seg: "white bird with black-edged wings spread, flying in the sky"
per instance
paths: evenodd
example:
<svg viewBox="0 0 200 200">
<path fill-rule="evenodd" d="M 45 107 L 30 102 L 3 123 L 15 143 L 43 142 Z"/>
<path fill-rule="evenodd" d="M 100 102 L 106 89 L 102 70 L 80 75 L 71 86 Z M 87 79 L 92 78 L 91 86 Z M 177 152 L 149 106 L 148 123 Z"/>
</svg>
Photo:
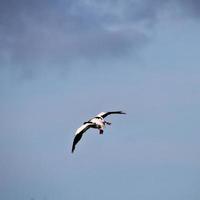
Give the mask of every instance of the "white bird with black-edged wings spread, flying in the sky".
<svg viewBox="0 0 200 200">
<path fill-rule="evenodd" d="M 105 121 L 104 118 L 111 114 L 126 114 L 126 113 L 122 111 L 101 112 L 94 118 L 88 120 L 87 122 L 84 122 L 83 125 L 80 128 L 78 128 L 77 131 L 75 132 L 75 137 L 72 145 L 72 153 L 75 150 L 76 144 L 82 138 L 83 133 L 85 133 L 89 128 L 99 129 L 99 134 L 103 134 L 103 129 L 105 125 L 106 124 L 111 125 L 111 123 Z"/>
</svg>

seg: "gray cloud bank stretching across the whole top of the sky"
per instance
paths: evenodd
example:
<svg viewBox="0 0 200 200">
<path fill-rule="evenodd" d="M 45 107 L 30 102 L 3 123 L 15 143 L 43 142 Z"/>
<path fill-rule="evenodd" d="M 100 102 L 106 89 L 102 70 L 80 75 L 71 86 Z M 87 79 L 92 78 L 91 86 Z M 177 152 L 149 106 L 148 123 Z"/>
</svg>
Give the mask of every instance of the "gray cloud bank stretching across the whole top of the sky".
<svg viewBox="0 0 200 200">
<path fill-rule="evenodd" d="M 175 2 L 1 0 L 1 64 L 48 65 L 128 55 L 148 41 L 146 26 L 154 25 L 166 6 L 199 15 L 198 0 Z"/>
</svg>

